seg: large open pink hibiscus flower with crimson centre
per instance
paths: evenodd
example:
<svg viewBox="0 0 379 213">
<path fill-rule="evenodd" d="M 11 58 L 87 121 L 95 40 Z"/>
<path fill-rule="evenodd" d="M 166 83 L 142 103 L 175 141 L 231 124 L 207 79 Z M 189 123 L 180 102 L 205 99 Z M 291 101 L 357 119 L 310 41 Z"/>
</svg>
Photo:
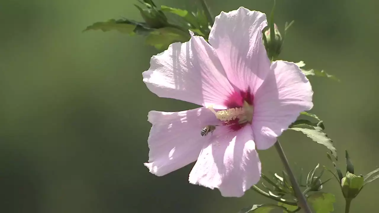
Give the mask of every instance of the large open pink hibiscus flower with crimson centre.
<svg viewBox="0 0 379 213">
<path fill-rule="evenodd" d="M 273 146 L 300 112 L 313 107 L 311 85 L 299 67 L 268 59 L 262 42 L 266 25 L 266 15 L 257 11 L 222 12 L 209 43 L 192 36 L 151 58 L 143 72 L 150 91 L 203 106 L 149 112 L 144 165 L 152 174 L 196 161 L 189 182 L 218 188 L 225 197 L 241 197 L 259 181 L 257 149 Z M 214 131 L 202 132 L 208 125 Z"/>
</svg>

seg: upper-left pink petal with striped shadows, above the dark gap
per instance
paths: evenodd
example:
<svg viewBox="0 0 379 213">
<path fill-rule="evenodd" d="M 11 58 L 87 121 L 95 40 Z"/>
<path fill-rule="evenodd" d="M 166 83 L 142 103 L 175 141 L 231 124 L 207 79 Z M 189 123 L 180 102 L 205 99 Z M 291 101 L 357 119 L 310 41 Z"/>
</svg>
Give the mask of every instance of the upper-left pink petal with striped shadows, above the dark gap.
<svg viewBox="0 0 379 213">
<path fill-rule="evenodd" d="M 215 51 L 199 36 L 153 56 L 143 81 L 159 97 L 216 109 L 226 109 L 223 101 L 233 91 Z"/>
</svg>

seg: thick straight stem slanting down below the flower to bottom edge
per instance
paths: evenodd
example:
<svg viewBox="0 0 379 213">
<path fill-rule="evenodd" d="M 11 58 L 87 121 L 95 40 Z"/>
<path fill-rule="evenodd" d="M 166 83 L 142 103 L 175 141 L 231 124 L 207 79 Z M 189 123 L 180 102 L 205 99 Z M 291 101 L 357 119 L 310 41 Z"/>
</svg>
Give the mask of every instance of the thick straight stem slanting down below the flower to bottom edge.
<svg viewBox="0 0 379 213">
<path fill-rule="evenodd" d="M 287 157 L 285 157 L 284 151 L 278 139 L 276 139 L 275 148 L 279 154 L 280 160 L 282 160 L 282 163 L 284 165 L 285 170 L 287 171 L 288 176 L 290 177 L 291 185 L 295 192 L 295 196 L 298 198 L 299 207 L 303 208 L 306 213 L 312 213 L 312 210 L 310 209 L 307 200 L 305 199 L 304 194 L 301 192 L 300 186 L 296 181 L 295 176 L 293 175 L 293 172 L 290 168 L 290 164 L 288 163 Z"/>
</svg>

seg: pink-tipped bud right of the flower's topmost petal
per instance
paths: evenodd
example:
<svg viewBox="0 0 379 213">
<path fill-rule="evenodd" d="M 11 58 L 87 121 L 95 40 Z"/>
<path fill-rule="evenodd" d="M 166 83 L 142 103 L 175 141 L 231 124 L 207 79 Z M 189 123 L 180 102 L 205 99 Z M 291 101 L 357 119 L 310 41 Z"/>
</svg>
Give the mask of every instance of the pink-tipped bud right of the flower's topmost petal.
<svg viewBox="0 0 379 213">
<path fill-rule="evenodd" d="M 274 23 L 274 39 L 271 40 L 270 28 L 266 26 L 263 29 L 263 44 L 265 45 L 269 59 L 277 58 L 282 52 L 283 37 L 279 32 L 276 24 Z"/>
</svg>

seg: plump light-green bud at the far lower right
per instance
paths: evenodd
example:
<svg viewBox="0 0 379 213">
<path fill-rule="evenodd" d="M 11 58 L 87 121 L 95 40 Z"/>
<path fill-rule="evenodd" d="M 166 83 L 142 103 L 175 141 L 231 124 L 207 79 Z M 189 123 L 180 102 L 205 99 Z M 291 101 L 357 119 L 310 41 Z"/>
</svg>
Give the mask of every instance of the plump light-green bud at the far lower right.
<svg viewBox="0 0 379 213">
<path fill-rule="evenodd" d="M 346 199 L 353 199 L 356 197 L 364 184 L 362 175 L 355 175 L 350 172 L 346 173 L 346 177 L 344 177 L 341 181 L 342 193 Z"/>
</svg>

